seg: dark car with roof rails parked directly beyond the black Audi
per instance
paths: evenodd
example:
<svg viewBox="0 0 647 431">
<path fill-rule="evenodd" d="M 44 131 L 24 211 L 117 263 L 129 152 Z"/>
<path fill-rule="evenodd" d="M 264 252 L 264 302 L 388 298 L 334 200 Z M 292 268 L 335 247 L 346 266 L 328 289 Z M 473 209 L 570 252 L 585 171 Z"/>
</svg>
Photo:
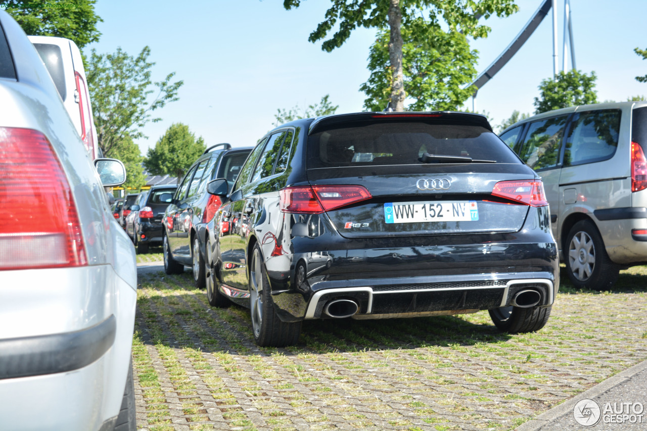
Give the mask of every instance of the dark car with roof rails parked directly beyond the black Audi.
<svg viewBox="0 0 647 431">
<path fill-rule="evenodd" d="M 232 184 L 252 148 L 232 149 L 230 144 L 207 148 L 189 168 L 164 214 L 164 269 L 167 274 L 193 269 L 196 287 L 204 288 L 204 243 L 206 223 L 214 217 L 221 200 L 206 192 L 206 183 L 226 178 Z"/>
</svg>

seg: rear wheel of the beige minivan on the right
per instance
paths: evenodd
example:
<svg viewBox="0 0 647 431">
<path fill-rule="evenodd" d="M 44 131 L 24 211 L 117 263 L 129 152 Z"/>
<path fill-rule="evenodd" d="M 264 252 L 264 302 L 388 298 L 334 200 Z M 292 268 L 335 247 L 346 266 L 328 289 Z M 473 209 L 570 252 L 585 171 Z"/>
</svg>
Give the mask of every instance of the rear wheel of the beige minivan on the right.
<svg viewBox="0 0 647 431">
<path fill-rule="evenodd" d="M 593 223 L 575 223 L 566 237 L 566 272 L 575 287 L 602 291 L 613 286 L 620 272 L 604 249 L 604 241 Z"/>
</svg>

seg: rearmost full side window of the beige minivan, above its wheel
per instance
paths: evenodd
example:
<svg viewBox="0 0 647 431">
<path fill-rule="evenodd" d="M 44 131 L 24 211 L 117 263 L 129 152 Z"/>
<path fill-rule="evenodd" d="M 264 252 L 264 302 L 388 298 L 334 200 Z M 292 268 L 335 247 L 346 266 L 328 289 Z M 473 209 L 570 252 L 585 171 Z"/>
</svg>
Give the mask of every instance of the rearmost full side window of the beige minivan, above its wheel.
<svg viewBox="0 0 647 431">
<path fill-rule="evenodd" d="M 610 159 L 618 148 L 620 109 L 576 113 L 569 127 L 564 166 Z"/>
</svg>

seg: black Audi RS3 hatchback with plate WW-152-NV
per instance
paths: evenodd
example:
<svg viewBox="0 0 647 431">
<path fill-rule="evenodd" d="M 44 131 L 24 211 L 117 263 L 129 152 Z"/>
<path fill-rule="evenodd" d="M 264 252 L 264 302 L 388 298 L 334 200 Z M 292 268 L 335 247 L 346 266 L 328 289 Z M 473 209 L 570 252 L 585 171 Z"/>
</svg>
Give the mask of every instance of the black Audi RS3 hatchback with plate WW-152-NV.
<svg viewBox="0 0 647 431">
<path fill-rule="evenodd" d="M 207 227 L 208 300 L 249 307 L 260 346 L 296 343 L 305 319 L 488 310 L 517 333 L 551 313 L 542 181 L 482 115 L 296 120 L 208 192 L 223 202 Z"/>
</svg>

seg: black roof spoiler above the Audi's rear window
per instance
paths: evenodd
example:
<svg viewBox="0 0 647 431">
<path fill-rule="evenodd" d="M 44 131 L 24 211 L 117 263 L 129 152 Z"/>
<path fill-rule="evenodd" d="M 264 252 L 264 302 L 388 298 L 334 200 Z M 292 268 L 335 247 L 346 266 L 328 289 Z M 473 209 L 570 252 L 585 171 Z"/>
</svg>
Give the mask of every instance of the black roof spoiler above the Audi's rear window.
<svg viewBox="0 0 647 431">
<path fill-rule="evenodd" d="M 468 112 L 361 112 L 353 114 L 327 115 L 315 118 L 310 124 L 308 135 L 312 135 L 321 129 L 344 123 L 415 120 L 438 124 L 455 124 L 457 126 L 479 126 L 492 131 L 492 126 L 490 126 L 490 122 L 488 122 L 485 115 Z"/>
</svg>

